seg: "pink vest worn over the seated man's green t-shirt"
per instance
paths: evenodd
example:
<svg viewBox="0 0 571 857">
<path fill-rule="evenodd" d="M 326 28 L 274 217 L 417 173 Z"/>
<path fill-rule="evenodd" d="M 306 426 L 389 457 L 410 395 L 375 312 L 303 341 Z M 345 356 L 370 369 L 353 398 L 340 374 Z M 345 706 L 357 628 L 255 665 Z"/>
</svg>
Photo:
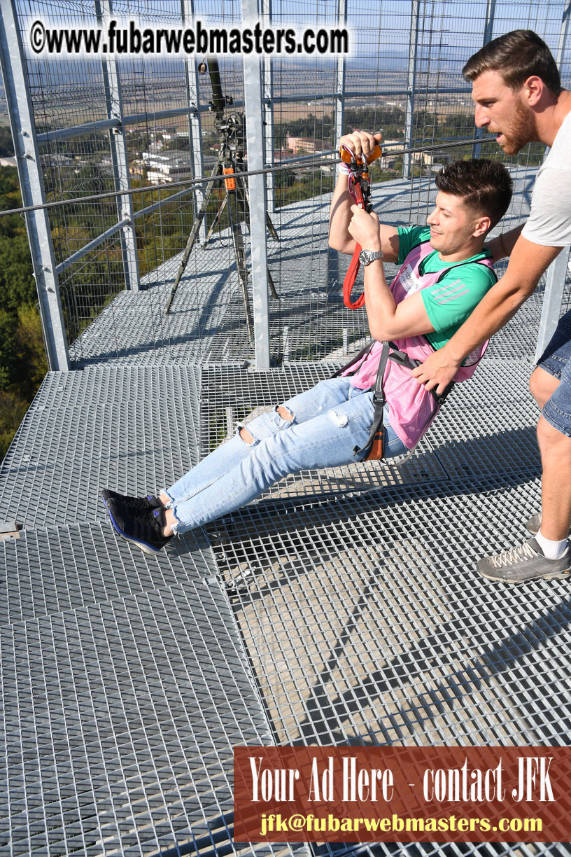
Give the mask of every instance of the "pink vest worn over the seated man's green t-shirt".
<svg viewBox="0 0 571 857">
<path fill-rule="evenodd" d="M 421 274 L 421 262 L 433 252 L 430 243 L 423 242 L 410 250 L 407 258 L 390 284 L 395 303 L 401 303 L 420 289 L 436 285 L 451 268 L 461 265 L 485 265 L 492 268 L 489 259 L 477 262 L 456 262 L 440 271 Z M 355 446 L 354 454 L 367 451 L 365 460 L 383 458 L 384 427 L 383 411 L 389 405 L 390 424 L 408 449 L 413 449 L 430 427 L 444 399 L 459 381 L 466 381 L 474 374 L 484 355 L 487 341 L 470 354 L 456 372 L 454 379 L 442 394 L 426 390 L 413 378 L 411 371 L 424 363 L 436 349 L 425 336 L 411 336 L 390 342 L 374 340 L 353 358 L 347 366 L 339 369 L 333 377 L 352 376 L 351 384 L 361 390 L 374 387 L 374 416 L 371 434 L 363 449 Z"/>
</svg>

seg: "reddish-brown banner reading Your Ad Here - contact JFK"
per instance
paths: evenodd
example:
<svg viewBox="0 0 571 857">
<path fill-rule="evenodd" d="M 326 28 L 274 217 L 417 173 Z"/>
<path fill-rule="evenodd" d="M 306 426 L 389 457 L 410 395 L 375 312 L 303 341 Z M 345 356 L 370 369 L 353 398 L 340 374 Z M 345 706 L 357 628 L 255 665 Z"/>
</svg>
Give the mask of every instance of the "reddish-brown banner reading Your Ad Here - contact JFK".
<svg viewBox="0 0 571 857">
<path fill-rule="evenodd" d="M 571 747 L 240 746 L 235 842 L 569 842 Z"/>
</svg>

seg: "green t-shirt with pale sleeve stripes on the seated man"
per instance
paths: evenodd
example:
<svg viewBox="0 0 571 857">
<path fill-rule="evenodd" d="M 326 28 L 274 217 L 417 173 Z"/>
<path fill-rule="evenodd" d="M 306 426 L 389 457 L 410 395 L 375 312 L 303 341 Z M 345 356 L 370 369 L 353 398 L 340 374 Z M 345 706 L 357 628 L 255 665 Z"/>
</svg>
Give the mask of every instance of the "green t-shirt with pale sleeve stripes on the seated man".
<svg viewBox="0 0 571 857">
<path fill-rule="evenodd" d="M 407 226 L 398 227 L 397 231 L 399 265 L 402 265 L 413 247 L 429 240 L 431 230 L 430 226 Z M 452 339 L 476 304 L 496 283 L 496 274 L 487 265 L 467 264 L 480 259 L 489 259 L 490 255 L 490 252 L 485 249 L 466 261 L 455 262 L 440 282 L 420 292 L 426 314 L 435 330 L 435 333 L 426 334 L 426 339 L 433 348 L 442 348 L 449 339 Z M 433 250 L 421 262 L 420 273 L 434 273 L 442 271 L 445 267 L 449 267 L 449 263 L 443 262 L 438 251 Z"/>
</svg>

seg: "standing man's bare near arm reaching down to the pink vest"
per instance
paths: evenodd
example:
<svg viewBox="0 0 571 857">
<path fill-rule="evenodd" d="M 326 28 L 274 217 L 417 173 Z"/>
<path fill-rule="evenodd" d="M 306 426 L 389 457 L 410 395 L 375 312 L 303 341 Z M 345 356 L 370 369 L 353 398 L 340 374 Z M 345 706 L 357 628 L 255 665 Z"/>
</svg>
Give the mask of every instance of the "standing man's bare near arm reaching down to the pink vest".
<svg viewBox="0 0 571 857">
<path fill-rule="evenodd" d="M 424 384 L 427 390 L 436 388 L 437 393 L 443 393 L 464 358 L 490 339 L 492 333 L 496 333 L 520 309 L 561 249 L 534 244 L 520 235 L 503 278 L 491 287 L 447 345 L 413 370 L 419 384 Z"/>
</svg>

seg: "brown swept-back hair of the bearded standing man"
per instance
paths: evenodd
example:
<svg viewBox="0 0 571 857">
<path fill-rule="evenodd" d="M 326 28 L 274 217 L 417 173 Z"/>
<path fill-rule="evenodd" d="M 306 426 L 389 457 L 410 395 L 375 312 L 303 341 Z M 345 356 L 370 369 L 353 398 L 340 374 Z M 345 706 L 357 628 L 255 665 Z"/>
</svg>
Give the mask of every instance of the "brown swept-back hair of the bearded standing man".
<svg viewBox="0 0 571 857">
<path fill-rule="evenodd" d="M 519 89 L 532 75 L 537 75 L 554 95 L 562 90 L 561 78 L 550 49 L 533 30 L 512 30 L 473 54 L 462 69 L 467 81 L 484 71 L 498 71 L 506 86 Z"/>
</svg>

